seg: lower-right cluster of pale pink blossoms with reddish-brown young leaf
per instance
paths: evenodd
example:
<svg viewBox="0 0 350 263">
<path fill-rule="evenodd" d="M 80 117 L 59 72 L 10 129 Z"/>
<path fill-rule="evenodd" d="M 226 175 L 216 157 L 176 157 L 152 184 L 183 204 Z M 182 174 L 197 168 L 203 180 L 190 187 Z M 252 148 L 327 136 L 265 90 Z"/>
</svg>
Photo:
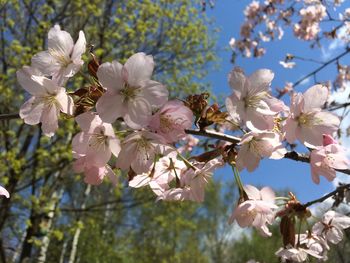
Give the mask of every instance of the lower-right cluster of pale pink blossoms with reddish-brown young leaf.
<svg viewBox="0 0 350 263">
<path fill-rule="evenodd" d="M 271 188 L 264 187 L 258 190 L 252 185 L 243 188 L 244 192 L 229 223 L 236 221 L 241 227 L 253 226 L 263 236 L 271 236 L 267 225 L 273 224 L 280 216 L 284 246 L 276 252 L 276 255 L 282 262 L 304 262 L 308 256 L 322 261 L 327 260 L 327 252 L 330 250 L 328 243 L 338 244 L 343 239 L 343 230 L 350 227 L 350 217 L 330 210 L 305 233 L 294 235 L 293 218 L 296 214 L 301 217 L 309 213 L 305 207 L 291 198 L 285 208 L 278 210 L 275 193 Z M 299 209 L 295 209 L 296 207 Z"/>
</svg>

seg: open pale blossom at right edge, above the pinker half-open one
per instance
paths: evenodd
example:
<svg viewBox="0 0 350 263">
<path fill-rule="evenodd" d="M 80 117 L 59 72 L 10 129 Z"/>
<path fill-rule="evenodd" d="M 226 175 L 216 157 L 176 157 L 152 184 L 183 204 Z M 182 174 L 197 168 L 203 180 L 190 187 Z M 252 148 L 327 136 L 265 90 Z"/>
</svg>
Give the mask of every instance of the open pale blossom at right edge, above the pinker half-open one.
<svg viewBox="0 0 350 263">
<path fill-rule="evenodd" d="M 289 143 L 298 139 L 306 146 L 320 146 L 323 134 L 332 134 L 338 129 L 338 116 L 321 110 L 327 98 L 328 88 L 323 85 L 292 95 L 290 114 L 283 127 Z"/>
</svg>

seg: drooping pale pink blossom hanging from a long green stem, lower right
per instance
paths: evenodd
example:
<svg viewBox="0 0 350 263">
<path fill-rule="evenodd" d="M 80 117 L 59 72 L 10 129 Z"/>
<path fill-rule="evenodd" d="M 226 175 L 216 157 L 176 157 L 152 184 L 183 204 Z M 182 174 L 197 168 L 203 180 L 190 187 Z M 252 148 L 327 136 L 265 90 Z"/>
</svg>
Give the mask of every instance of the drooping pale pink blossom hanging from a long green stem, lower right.
<svg viewBox="0 0 350 263">
<path fill-rule="evenodd" d="M 240 227 L 254 226 L 264 236 L 271 236 L 271 232 L 266 224 L 272 224 L 274 220 L 274 209 L 277 209 L 275 193 L 269 187 L 264 187 L 260 191 L 252 186 L 244 186 L 244 191 L 248 200 L 238 204 L 233 211 L 229 223 L 235 220 Z"/>
</svg>

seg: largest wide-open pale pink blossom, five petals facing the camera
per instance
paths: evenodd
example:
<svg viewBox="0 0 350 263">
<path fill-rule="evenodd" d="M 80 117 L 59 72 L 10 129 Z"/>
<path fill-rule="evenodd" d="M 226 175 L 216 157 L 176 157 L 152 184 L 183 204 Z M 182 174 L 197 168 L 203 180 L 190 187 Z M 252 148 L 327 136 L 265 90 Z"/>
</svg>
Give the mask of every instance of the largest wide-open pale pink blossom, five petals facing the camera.
<svg viewBox="0 0 350 263">
<path fill-rule="evenodd" d="M 134 54 L 124 66 L 114 60 L 98 68 L 98 80 L 107 90 L 96 104 L 103 121 L 123 117 L 133 129 L 148 125 L 153 108 L 168 100 L 165 86 L 150 79 L 153 68 L 153 57 L 144 53 Z"/>
</svg>

